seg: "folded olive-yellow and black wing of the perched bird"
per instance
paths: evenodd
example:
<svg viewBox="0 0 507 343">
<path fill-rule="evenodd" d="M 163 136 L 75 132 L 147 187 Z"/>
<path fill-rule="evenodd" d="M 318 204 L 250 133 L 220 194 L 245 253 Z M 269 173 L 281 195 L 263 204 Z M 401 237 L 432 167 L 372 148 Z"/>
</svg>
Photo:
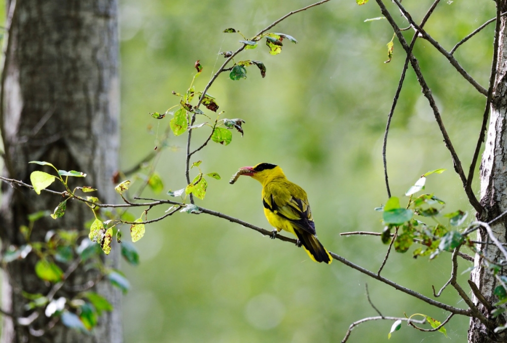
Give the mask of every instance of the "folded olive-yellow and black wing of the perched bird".
<svg viewBox="0 0 507 343">
<path fill-rule="evenodd" d="M 295 224 L 297 227 L 315 235 L 315 223 L 308 200 L 299 199 L 290 194 L 274 196 L 266 193 L 263 196 L 264 207 L 271 212 Z"/>
</svg>

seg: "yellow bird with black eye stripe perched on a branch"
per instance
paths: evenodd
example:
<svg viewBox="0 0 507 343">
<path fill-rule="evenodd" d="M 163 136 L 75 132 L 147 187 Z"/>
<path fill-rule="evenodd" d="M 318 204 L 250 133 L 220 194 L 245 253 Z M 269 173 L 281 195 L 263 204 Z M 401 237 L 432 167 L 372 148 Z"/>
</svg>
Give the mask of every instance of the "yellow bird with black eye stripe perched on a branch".
<svg viewBox="0 0 507 343">
<path fill-rule="evenodd" d="M 298 247 L 303 245 L 312 260 L 331 263 L 333 258 L 315 234 L 315 223 L 303 188 L 287 180 L 282 169 L 270 163 L 243 167 L 238 173 L 261 182 L 264 214 L 276 228 L 272 238 L 275 238 L 280 230 L 288 231 L 296 235 L 296 244 Z"/>
</svg>

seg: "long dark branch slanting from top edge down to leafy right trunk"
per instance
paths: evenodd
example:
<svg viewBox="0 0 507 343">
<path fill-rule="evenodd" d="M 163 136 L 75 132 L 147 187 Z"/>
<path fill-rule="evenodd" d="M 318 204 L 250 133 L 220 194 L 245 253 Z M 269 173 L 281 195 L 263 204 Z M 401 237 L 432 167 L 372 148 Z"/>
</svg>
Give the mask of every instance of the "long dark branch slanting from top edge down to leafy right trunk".
<svg viewBox="0 0 507 343">
<path fill-rule="evenodd" d="M 376 1 L 377 1 L 378 6 L 380 7 L 382 14 L 384 15 L 384 17 L 386 17 L 387 21 L 389 22 L 391 27 L 394 29 L 394 33 L 396 34 L 403 49 L 407 52 L 408 55 L 410 55 L 410 63 L 417 75 L 417 80 L 419 81 L 419 84 L 421 85 L 422 93 L 424 94 L 424 96 L 428 100 L 429 105 L 431 106 L 431 109 L 433 110 L 433 115 L 437 121 L 437 124 L 439 125 L 442 136 L 444 137 L 446 147 L 449 150 L 449 152 L 451 153 L 451 157 L 452 157 L 452 160 L 454 163 L 454 170 L 456 171 L 456 173 L 458 174 L 458 176 L 461 179 L 461 182 L 463 184 L 463 188 L 465 189 L 465 193 L 467 195 L 468 201 L 476 209 L 477 212 L 482 213 L 483 208 L 482 208 L 481 204 L 479 203 L 479 201 L 477 200 L 474 192 L 471 192 L 468 189 L 468 187 L 466 186 L 466 176 L 463 172 L 461 162 L 458 158 L 458 155 L 456 154 L 456 150 L 454 149 L 452 142 L 449 138 L 449 135 L 447 134 L 447 131 L 444 127 L 444 123 L 442 122 L 442 118 L 440 116 L 440 112 L 437 107 L 437 104 L 436 104 L 433 96 L 431 95 L 431 90 L 429 89 L 428 85 L 426 84 L 426 81 L 424 80 L 421 69 L 419 67 L 419 62 L 417 61 L 417 59 L 414 57 L 413 54 L 411 54 L 411 53 L 409 54 L 410 47 L 407 45 L 407 41 L 405 40 L 405 37 L 403 36 L 402 32 L 400 31 L 400 28 L 397 26 L 396 22 L 392 18 L 389 11 L 387 11 L 382 0 L 376 0 Z M 397 0 L 393 0 L 393 1 L 397 2 Z"/>
</svg>

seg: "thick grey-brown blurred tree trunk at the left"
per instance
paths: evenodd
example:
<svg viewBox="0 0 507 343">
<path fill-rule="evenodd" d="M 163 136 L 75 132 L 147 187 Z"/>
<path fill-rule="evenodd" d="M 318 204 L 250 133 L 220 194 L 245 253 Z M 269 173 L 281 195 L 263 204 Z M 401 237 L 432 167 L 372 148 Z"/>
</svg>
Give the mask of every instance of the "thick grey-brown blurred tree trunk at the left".
<svg viewBox="0 0 507 343">
<path fill-rule="evenodd" d="M 33 170 L 51 170 L 28 162 L 47 161 L 58 169 L 86 173 L 86 178 L 79 178 L 79 185 L 98 188 L 94 196 L 102 202 L 115 202 L 112 176 L 118 168 L 119 145 L 117 1 L 12 0 L 8 13 L 11 29 L 6 35 L 0 93 L 4 175 L 30 183 Z M 5 253 L 11 245 L 27 243 L 20 227 L 28 225 L 28 214 L 52 211 L 62 199 L 44 192 L 38 196 L 33 190 L 5 183 L 3 188 L 0 238 Z M 86 205 L 68 201 L 62 218 L 44 217 L 35 222 L 30 242 L 44 242 L 49 230 L 82 231 L 90 218 L 93 214 Z M 118 264 L 117 250 L 113 248 L 107 257 L 113 266 Z M 114 311 L 102 313 L 92 335 L 69 329 L 61 321 L 47 318 L 44 311 L 30 325 L 21 325 L 16 319 L 29 317 L 34 311 L 25 308 L 29 300 L 21 292 L 46 295 L 52 287 L 34 273 L 39 259 L 31 252 L 4 265 L 3 310 L 13 317 L 3 319 L 2 343 L 122 342 L 120 293 L 104 281 L 94 289 L 106 296 Z M 79 288 L 72 286 L 86 284 L 96 274 L 78 266 L 55 298 L 72 298 Z"/>
</svg>

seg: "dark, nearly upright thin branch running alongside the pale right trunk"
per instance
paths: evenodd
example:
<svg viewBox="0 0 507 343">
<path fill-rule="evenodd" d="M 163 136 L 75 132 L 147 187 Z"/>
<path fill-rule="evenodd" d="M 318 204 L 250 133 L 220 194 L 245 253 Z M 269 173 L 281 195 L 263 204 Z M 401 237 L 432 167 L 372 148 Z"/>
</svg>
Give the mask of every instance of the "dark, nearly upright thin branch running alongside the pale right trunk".
<svg viewBox="0 0 507 343">
<path fill-rule="evenodd" d="M 489 111 L 491 106 L 491 100 L 493 99 L 493 88 L 495 86 L 496 80 L 496 69 L 498 64 L 498 46 L 500 40 L 500 9 L 497 9 L 496 16 L 496 25 L 495 25 L 495 36 L 493 41 L 493 61 L 491 62 L 491 72 L 489 74 L 489 87 L 488 94 L 486 99 L 486 106 L 484 108 L 484 114 L 482 116 L 482 125 L 481 131 L 479 132 L 479 139 L 477 140 L 476 148 L 474 150 L 474 156 L 472 157 L 472 162 L 470 163 L 470 168 L 468 169 L 468 179 L 466 186 L 468 189 L 472 190 L 472 180 L 474 179 L 475 169 L 477 165 L 477 160 L 479 159 L 479 153 L 481 151 L 482 143 L 486 137 L 486 128 L 488 125 Z"/>
</svg>

